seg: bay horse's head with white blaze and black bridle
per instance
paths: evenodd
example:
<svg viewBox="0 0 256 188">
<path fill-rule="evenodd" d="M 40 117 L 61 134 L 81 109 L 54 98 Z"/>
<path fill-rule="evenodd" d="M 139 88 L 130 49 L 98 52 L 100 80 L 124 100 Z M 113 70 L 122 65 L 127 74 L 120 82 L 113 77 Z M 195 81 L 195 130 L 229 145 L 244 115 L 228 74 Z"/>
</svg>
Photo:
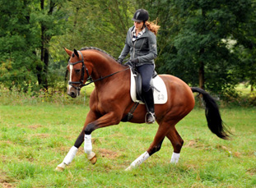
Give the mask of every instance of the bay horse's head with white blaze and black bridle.
<svg viewBox="0 0 256 188">
<path fill-rule="evenodd" d="M 69 71 L 67 94 L 72 98 L 76 98 L 90 75 L 80 51 L 74 49 L 74 52 L 72 52 L 67 48 L 65 48 L 65 51 L 70 56 L 67 65 L 67 70 Z"/>
</svg>

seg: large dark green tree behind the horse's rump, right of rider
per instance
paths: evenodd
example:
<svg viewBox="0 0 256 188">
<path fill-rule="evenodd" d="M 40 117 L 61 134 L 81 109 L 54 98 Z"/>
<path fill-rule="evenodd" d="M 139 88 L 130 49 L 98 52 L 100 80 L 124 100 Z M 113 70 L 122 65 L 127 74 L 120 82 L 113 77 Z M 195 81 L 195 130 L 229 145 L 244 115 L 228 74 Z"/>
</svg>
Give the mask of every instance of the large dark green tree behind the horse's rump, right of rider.
<svg viewBox="0 0 256 188">
<path fill-rule="evenodd" d="M 223 39 L 235 39 L 233 32 L 246 22 L 251 2 L 184 0 L 175 1 L 175 6 L 184 18 L 183 28 L 174 41 L 177 57 L 185 67 L 195 64 L 199 86 L 216 92 L 235 85 L 230 70 L 239 60 L 226 48 Z"/>
</svg>

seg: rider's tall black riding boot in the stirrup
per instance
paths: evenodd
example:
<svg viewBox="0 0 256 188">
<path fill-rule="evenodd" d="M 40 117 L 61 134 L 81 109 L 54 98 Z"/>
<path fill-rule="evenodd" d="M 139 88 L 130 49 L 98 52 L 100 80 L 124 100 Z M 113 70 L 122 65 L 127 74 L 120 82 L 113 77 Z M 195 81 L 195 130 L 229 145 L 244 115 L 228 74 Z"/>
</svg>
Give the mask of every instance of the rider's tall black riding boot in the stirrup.
<svg viewBox="0 0 256 188">
<path fill-rule="evenodd" d="M 147 108 L 147 114 L 146 114 L 145 120 L 147 123 L 154 123 L 156 120 L 156 117 L 155 117 L 153 89 L 149 89 L 147 92 L 143 92 L 143 97 L 144 97 L 144 101 Z"/>
</svg>

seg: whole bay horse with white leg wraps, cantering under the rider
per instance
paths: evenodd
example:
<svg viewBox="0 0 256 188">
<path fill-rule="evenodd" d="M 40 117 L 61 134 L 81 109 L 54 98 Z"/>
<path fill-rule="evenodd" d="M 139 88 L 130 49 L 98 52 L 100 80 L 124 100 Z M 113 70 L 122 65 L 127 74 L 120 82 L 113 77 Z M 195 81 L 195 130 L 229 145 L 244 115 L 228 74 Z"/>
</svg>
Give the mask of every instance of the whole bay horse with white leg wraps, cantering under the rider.
<svg viewBox="0 0 256 188">
<path fill-rule="evenodd" d="M 94 82 L 95 89 L 91 93 L 90 111 L 86 122 L 75 144 L 63 159 L 63 163 L 56 167 L 58 171 L 63 171 L 72 162 L 77 149 L 83 142 L 85 142 L 84 150 L 87 158 L 95 164 L 97 158 L 92 151 L 91 133 L 105 126 L 118 125 L 134 106 L 130 97 L 131 72 L 128 66 L 119 64 L 114 57 L 99 48 L 81 48 L 80 51 L 74 49 L 73 52 L 65 48 L 65 51 L 70 57 L 67 65 L 70 75 L 67 94 L 76 98 L 81 87 L 91 82 Z M 165 82 L 168 100 L 165 104 L 155 105 L 158 130 L 147 151 L 133 161 L 126 170 L 137 167 L 159 151 L 165 137 L 170 140 L 174 149 L 170 163 L 178 163 L 184 140 L 175 129 L 175 125 L 193 109 L 195 104 L 193 92 L 201 94 L 205 102 L 208 128 L 221 139 L 229 137 L 222 123 L 218 106 L 210 94 L 203 89 L 190 88 L 183 80 L 175 76 L 160 75 L 160 77 Z M 90 83 L 85 84 L 86 81 Z M 144 123 L 146 113 L 145 105 L 139 104 L 129 122 Z"/>
</svg>

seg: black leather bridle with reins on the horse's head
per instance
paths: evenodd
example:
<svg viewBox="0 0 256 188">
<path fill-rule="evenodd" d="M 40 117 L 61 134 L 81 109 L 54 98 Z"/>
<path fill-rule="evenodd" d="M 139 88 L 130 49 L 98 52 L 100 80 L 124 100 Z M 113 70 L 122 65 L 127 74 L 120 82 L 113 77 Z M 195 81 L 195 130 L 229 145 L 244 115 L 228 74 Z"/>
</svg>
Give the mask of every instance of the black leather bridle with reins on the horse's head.
<svg viewBox="0 0 256 188">
<path fill-rule="evenodd" d="M 81 89 L 83 86 L 91 85 L 91 83 L 94 83 L 94 82 L 99 81 L 99 80 L 103 80 L 103 79 L 105 79 L 105 78 L 107 78 L 107 77 L 109 77 L 109 76 L 114 76 L 115 74 L 121 72 L 121 71 L 117 71 L 117 72 L 114 72 L 114 73 L 112 73 L 112 74 L 110 74 L 110 75 L 108 75 L 108 76 L 103 76 L 103 77 L 100 76 L 99 79 L 93 80 L 92 77 L 91 77 L 91 75 L 89 75 L 89 71 L 88 71 L 88 69 L 87 69 L 87 67 L 86 67 L 86 65 L 85 65 L 84 57 L 82 56 L 82 53 L 81 53 L 80 51 L 77 51 L 77 52 L 81 54 L 81 60 L 80 60 L 80 61 L 78 61 L 78 62 L 70 62 L 70 61 L 68 60 L 68 65 L 72 65 L 72 66 L 73 66 L 73 65 L 76 65 L 76 64 L 79 63 L 79 62 L 81 62 L 81 78 L 80 78 L 80 80 L 79 80 L 79 81 L 68 81 L 68 85 L 71 85 L 74 89 L 77 89 L 77 91 L 80 91 L 80 89 Z M 86 85 L 83 84 L 83 82 L 84 82 L 84 76 L 85 76 L 85 69 L 86 69 L 86 74 L 87 74 L 87 76 L 88 76 L 88 79 L 87 79 L 87 80 L 89 80 L 89 83 L 87 83 Z M 128 68 L 126 68 L 126 69 L 123 69 L 122 71 L 127 71 L 128 69 L 130 69 L 130 66 L 128 66 Z M 78 86 L 75 86 L 75 85 L 78 85 Z"/>
</svg>

